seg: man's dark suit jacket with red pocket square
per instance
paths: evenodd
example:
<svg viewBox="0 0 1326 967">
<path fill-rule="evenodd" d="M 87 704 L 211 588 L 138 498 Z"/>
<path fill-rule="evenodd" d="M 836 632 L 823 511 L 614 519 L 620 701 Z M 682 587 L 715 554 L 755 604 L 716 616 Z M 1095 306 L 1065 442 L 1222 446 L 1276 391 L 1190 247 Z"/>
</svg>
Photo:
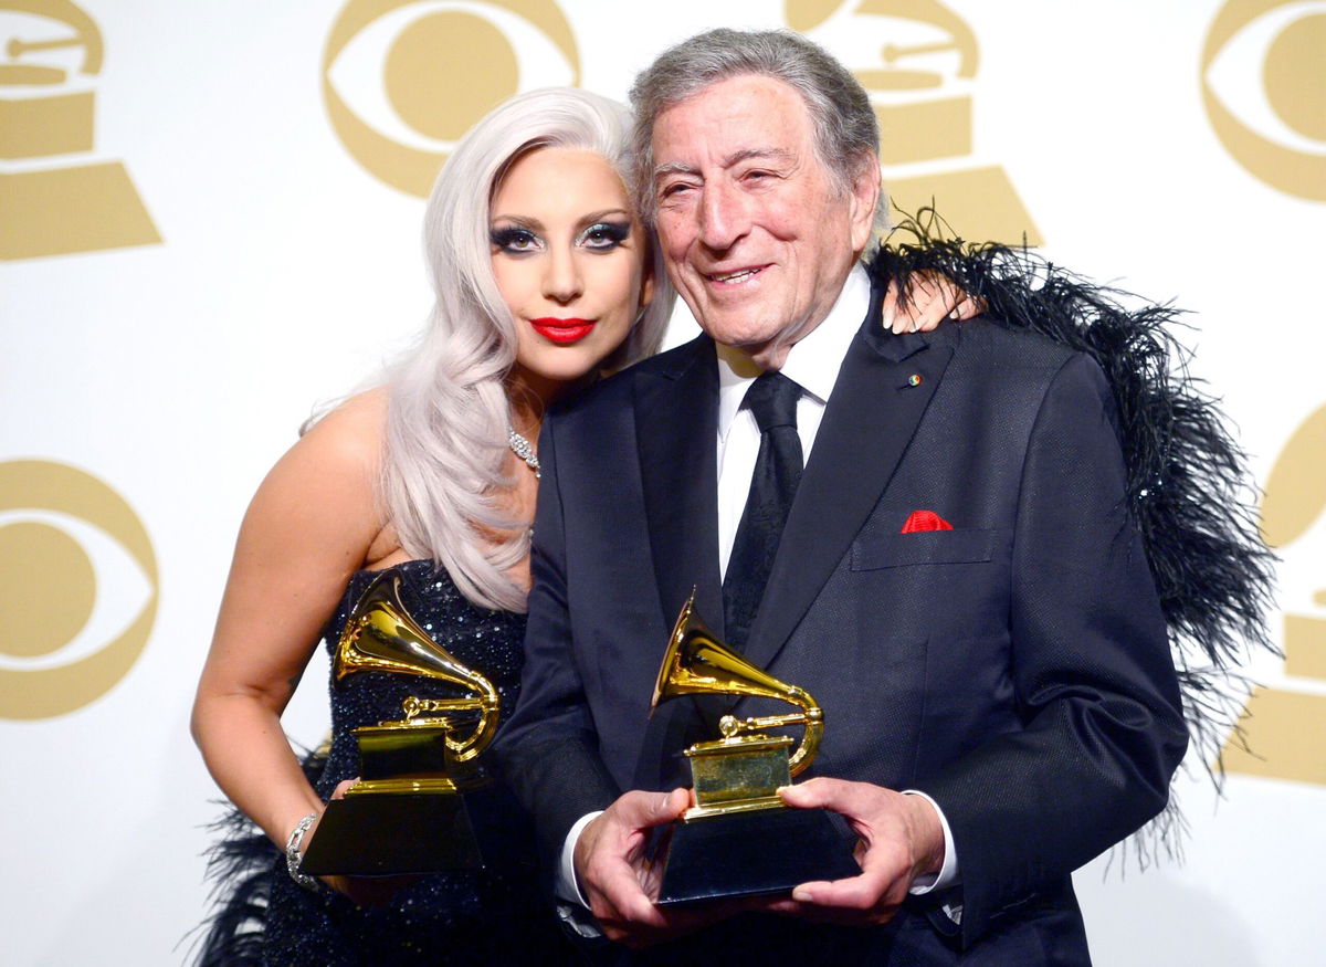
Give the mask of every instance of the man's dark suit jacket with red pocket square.
<svg viewBox="0 0 1326 967">
<path fill-rule="evenodd" d="M 904 910 L 849 943 L 879 963 L 961 948 L 1086 962 L 1069 873 L 1166 804 L 1185 748 L 1113 399 L 1082 354 L 984 320 L 894 336 L 878 302 L 839 370 L 747 655 L 825 708 L 806 777 L 922 789 L 952 829 L 960 933 Z M 721 634 L 716 414 L 701 336 L 545 420 L 522 695 L 497 751 L 549 853 L 622 791 L 678 784 L 695 710 L 675 700 L 651 720 L 648 702 L 692 588 Z M 953 529 L 902 533 L 918 509 Z M 821 954 L 829 942 L 800 923 L 743 929 L 728 934 L 778 938 L 774 956 L 798 936 Z"/>
</svg>

